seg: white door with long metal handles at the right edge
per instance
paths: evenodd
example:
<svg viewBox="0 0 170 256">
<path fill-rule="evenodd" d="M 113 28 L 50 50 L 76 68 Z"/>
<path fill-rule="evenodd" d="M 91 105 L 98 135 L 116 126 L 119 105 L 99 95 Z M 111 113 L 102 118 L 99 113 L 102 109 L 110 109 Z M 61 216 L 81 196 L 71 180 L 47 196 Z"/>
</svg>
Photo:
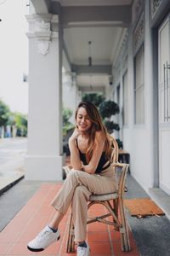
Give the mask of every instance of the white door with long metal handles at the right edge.
<svg viewBox="0 0 170 256">
<path fill-rule="evenodd" d="M 159 185 L 170 195 L 170 15 L 158 29 Z"/>
</svg>

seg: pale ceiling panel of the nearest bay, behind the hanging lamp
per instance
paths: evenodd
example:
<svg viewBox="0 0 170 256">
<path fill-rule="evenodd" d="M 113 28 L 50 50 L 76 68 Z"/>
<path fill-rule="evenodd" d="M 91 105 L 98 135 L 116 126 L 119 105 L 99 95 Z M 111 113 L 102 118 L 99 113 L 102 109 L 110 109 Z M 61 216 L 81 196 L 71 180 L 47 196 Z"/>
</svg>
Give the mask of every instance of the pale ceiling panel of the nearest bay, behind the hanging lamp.
<svg viewBox="0 0 170 256">
<path fill-rule="evenodd" d="M 76 65 L 88 65 L 89 44 L 93 65 L 111 65 L 117 44 L 122 37 L 122 27 L 83 26 L 64 29 L 65 46 Z"/>
</svg>

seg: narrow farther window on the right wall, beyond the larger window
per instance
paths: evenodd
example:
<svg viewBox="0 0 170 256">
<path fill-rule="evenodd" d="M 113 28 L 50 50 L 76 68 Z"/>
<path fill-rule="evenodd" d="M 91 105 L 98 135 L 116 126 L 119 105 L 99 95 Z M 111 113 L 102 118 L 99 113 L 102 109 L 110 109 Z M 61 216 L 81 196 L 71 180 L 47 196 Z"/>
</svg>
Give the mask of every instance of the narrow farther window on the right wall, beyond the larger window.
<svg viewBox="0 0 170 256">
<path fill-rule="evenodd" d="M 128 124 L 127 72 L 124 73 L 124 75 L 123 75 L 122 83 L 123 83 L 123 114 L 122 114 L 122 121 L 123 121 L 123 125 L 127 125 Z"/>
</svg>

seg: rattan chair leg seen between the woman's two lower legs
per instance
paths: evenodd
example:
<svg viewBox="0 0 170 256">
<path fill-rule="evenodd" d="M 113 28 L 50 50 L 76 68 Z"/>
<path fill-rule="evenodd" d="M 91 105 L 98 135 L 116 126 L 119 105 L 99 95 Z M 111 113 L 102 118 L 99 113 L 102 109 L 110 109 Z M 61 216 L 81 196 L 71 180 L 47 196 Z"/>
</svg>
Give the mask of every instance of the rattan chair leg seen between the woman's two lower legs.
<svg viewBox="0 0 170 256">
<path fill-rule="evenodd" d="M 74 241 L 74 225 L 72 220 L 72 213 L 69 221 L 68 239 L 67 239 L 67 253 L 75 252 L 75 241 Z"/>
</svg>

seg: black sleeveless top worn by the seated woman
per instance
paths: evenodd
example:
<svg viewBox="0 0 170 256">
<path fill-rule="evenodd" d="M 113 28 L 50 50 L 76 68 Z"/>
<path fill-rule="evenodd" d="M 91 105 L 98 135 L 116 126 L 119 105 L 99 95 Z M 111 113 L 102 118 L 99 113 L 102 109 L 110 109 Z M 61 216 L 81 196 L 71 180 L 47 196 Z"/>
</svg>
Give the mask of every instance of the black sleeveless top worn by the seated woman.
<svg viewBox="0 0 170 256">
<path fill-rule="evenodd" d="M 76 140 L 76 142 L 77 142 L 77 140 Z M 77 148 L 78 148 L 78 142 L 77 142 Z M 86 159 L 86 154 L 82 153 L 79 148 L 78 148 L 78 151 L 79 151 L 80 160 L 82 161 L 82 164 L 84 166 L 87 166 L 88 161 Z M 102 152 L 101 157 L 99 159 L 99 164 L 95 170 L 95 173 L 100 173 L 100 172 L 104 171 L 105 169 L 107 169 L 109 166 L 111 166 L 110 162 L 108 163 L 108 165 L 105 166 L 106 162 L 108 162 L 108 159 L 106 159 L 105 152 Z M 103 166 L 105 166 L 105 167 L 103 167 Z"/>
</svg>

